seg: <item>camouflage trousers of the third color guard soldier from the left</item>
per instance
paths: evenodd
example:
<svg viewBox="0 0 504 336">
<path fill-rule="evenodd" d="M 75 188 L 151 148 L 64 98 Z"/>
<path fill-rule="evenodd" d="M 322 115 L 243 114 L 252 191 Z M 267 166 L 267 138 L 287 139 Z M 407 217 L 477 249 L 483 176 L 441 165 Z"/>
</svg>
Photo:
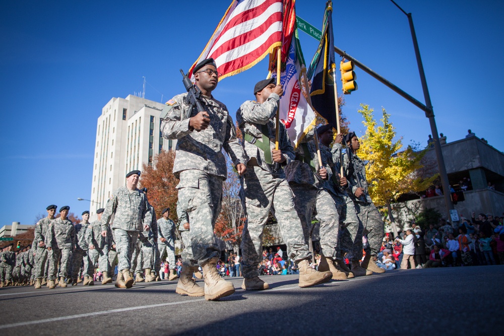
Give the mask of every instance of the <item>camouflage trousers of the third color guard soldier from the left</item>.
<svg viewBox="0 0 504 336">
<path fill-rule="evenodd" d="M 317 189 L 312 185 L 291 183 L 290 187 L 306 244 L 313 230 L 311 216 L 316 212 L 315 218 L 320 222 L 321 252 L 328 258 L 336 258 L 340 214 L 333 196 L 326 189 Z"/>
</svg>

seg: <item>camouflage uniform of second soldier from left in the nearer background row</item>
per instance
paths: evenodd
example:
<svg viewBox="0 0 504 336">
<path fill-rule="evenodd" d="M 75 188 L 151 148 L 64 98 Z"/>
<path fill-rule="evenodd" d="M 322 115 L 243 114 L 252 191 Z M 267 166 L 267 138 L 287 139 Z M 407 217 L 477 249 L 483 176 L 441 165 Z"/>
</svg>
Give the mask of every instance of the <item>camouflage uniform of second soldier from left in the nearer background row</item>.
<svg viewBox="0 0 504 336">
<path fill-rule="evenodd" d="M 70 259 L 72 251 L 75 247 L 75 228 L 74 224 L 68 218 L 63 220 L 61 217 L 52 221 L 49 224 L 47 247 L 52 249 L 49 251 L 49 279 L 55 280 L 57 277 L 67 278 L 70 270 Z M 58 274 L 58 261 L 59 265 Z"/>
</svg>

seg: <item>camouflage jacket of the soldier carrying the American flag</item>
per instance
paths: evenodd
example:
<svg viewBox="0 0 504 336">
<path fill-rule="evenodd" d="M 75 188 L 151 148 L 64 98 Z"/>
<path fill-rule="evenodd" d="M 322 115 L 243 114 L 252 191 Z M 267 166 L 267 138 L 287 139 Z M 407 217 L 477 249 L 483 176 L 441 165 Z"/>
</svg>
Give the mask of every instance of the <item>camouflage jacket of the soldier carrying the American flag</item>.
<svg viewBox="0 0 504 336">
<path fill-rule="evenodd" d="M 265 136 L 269 138 L 270 152 L 275 149 L 276 135 L 276 119 L 275 114 L 278 108 L 280 97 L 276 93 L 272 93 L 268 99 L 260 104 L 257 101 L 247 100 L 241 104 L 236 111 L 236 121 L 243 136 L 249 135 L 250 141 L 243 140 L 243 148 L 247 162 L 255 158 L 258 165 L 269 172 L 272 172 L 272 165 L 266 163 L 265 153 L 256 144 L 263 141 L 263 125 L 266 125 Z M 279 144 L 278 148 L 282 151 L 285 161 L 280 164 L 281 168 L 285 167 L 295 158 L 294 148 L 290 142 L 285 125 L 280 122 Z M 280 170 L 280 175 L 283 175 L 283 169 Z"/>
</svg>

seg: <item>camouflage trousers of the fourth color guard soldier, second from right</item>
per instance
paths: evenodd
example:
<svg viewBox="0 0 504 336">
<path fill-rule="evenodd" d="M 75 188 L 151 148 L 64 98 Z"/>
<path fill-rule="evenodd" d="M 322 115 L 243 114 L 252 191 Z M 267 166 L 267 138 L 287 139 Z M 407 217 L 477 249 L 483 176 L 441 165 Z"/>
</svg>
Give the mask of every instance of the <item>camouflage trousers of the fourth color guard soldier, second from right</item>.
<svg viewBox="0 0 504 336">
<path fill-rule="evenodd" d="M 362 259 L 362 234 L 364 226 L 357 217 L 355 206 L 350 197 L 345 196 L 345 205 L 341 208 L 340 216 L 340 247 L 341 250 L 349 255 L 351 261 Z M 343 255 L 339 259 L 343 259 Z"/>
</svg>

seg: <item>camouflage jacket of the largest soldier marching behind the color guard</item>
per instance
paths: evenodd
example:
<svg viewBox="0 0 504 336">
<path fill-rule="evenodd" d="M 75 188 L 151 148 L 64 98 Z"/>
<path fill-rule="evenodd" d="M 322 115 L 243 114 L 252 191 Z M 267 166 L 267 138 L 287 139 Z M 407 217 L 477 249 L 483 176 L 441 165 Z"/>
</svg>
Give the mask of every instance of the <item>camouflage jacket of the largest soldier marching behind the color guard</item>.
<svg viewBox="0 0 504 336">
<path fill-rule="evenodd" d="M 144 224 L 151 225 L 152 217 L 147 197 L 139 189 L 132 192 L 123 186 L 115 190 L 105 205 L 101 217 L 101 230 L 106 231 L 112 214 L 115 214 L 113 229 L 143 231 Z"/>
</svg>

